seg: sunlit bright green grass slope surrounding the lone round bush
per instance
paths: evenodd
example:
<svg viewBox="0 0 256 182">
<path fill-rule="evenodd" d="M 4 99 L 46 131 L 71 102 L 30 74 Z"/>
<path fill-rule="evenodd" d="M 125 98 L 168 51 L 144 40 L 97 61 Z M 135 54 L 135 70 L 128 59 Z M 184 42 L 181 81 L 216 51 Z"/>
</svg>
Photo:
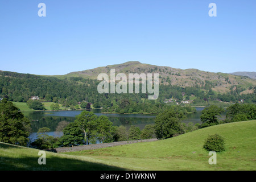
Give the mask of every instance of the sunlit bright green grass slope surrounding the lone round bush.
<svg viewBox="0 0 256 182">
<path fill-rule="evenodd" d="M 68 152 L 90 156 L 118 167 L 135 170 L 256 170 L 256 120 L 226 123 L 156 142 L 135 143 L 98 150 Z M 203 149 L 209 134 L 225 138 L 226 150 L 217 164 L 208 163 Z"/>
</svg>

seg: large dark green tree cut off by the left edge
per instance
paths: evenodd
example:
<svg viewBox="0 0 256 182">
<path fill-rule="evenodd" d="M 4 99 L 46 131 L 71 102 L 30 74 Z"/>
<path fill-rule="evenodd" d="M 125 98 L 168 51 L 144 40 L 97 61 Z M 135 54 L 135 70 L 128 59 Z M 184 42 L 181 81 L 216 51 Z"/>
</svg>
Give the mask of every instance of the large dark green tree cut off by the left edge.
<svg viewBox="0 0 256 182">
<path fill-rule="evenodd" d="M 0 102 L 0 141 L 26 146 L 29 131 L 30 121 L 13 102 L 3 98 Z"/>
</svg>

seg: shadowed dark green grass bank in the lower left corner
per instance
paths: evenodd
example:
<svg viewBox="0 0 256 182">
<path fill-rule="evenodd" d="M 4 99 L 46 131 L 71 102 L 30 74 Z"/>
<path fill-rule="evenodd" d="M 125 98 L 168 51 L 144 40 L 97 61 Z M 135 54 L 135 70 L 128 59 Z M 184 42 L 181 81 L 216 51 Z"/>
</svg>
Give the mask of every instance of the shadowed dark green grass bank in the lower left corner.
<svg viewBox="0 0 256 182">
<path fill-rule="evenodd" d="M 46 152 L 46 165 L 38 164 L 39 150 L 0 142 L 0 170 L 123 170 L 98 163 L 97 159 Z"/>
</svg>

